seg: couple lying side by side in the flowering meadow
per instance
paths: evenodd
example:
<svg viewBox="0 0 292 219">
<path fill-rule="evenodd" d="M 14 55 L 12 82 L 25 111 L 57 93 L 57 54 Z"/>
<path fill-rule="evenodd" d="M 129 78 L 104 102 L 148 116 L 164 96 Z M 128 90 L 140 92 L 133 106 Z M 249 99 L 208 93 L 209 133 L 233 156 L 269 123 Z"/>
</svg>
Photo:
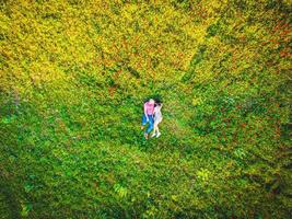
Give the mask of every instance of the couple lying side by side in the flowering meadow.
<svg viewBox="0 0 292 219">
<path fill-rule="evenodd" d="M 142 118 L 141 129 L 144 128 L 144 125 L 149 123 L 147 130 L 144 131 L 145 139 L 149 138 L 149 134 L 154 128 L 152 138 L 156 136 L 159 138 L 161 136 L 159 124 L 162 122 L 162 113 L 161 113 L 162 103 L 155 102 L 153 99 L 150 99 L 144 103 L 144 114 Z"/>
</svg>

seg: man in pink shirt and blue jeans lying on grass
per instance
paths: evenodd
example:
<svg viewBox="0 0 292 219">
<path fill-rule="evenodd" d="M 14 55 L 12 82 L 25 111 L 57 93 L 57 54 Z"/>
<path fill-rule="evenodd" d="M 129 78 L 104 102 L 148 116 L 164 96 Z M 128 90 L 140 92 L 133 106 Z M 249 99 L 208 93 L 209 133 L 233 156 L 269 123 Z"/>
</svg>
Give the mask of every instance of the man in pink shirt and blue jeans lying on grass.
<svg viewBox="0 0 292 219">
<path fill-rule="evenodd" d="M 154 104 L 155 104 L 155 101 L 153 99 L 150 99 L 148 102 L 144 103 L 144 114 L 143 114 L 143 117 L 142 117 L 142 126 L 141 126 L 141 129 L 143 129 L 144 128 L 144 125 L 147 125 L 147 123 L 149 123 L 149 126 L 148 126 L 148 128 L 147 128 L 147 130 L 144 132 L 145 139 L 149 138 L 149 134 L 153 129 L 153 124 L 154 124 L 154 119 L 153 119 Z"/>
</svg>

